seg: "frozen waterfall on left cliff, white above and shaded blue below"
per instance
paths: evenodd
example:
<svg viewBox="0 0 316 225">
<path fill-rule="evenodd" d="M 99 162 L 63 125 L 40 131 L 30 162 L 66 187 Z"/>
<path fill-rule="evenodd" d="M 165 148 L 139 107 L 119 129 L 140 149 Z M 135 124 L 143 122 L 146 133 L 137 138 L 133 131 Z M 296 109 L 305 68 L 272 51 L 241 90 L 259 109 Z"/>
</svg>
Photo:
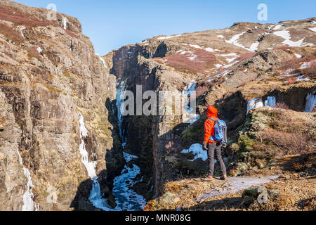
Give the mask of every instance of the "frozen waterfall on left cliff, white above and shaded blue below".
<svg viewBox="0 0 316 225">
<path fill-rule="evenodd" d="M 84 117 L 80 114 L 79 120 L 79 130 L 80 130 L 80 139 L 81 143 L 79 146 L 79 152 L 81 154 L 81 162 L 86 167 L 86 171 L 88 172 L 88 176 L 90 176 L 92 181 L 92 189 L 90 192 L 89 200 L 91 204 L 100 209 L 109 211 L 112 208 L 107 204 L 107 200 L 102 198 L 100 184 L 98 182 L 98 176 L 96 175 L 96 164 L 97 162 L 89 162 L 88 160 L 88 152 L 86 151 L 86 145 L 84 143 L 84 138 L 88 136 L 88 130 L 86 129 L 86 125 L 84 124 Z"/>
</svg>

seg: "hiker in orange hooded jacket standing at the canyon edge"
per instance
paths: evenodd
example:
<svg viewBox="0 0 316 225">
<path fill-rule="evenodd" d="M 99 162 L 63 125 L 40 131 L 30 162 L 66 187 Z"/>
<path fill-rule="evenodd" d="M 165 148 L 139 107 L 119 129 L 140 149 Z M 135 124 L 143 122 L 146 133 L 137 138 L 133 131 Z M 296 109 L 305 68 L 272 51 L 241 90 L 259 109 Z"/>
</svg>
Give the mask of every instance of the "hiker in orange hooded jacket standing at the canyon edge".
<svg viewBox="0 0 316 225">
<path fill-rule="evenodd" d="M 209 162 L 209 173 L 206 176 L 206 180 L 212 181 L 214 175 L 214 153 L 216 153 L 217 160 L 220 163 L 220 170 L 223 173 L 223 176 L 220 178 L 223 180 L 227 179 L 226 167 L 222 159 L 221 148 L 226 146 L 226 143 L 222 141 L 215 141 L 216 131 L 214 127 L 218 124 L 218 110 L 213 106 L 209 106 L 207 109 L 207 120 L 204 123 L 204 142 L 203 150 L 207 150 L 208 162 Z"/>
</svg>

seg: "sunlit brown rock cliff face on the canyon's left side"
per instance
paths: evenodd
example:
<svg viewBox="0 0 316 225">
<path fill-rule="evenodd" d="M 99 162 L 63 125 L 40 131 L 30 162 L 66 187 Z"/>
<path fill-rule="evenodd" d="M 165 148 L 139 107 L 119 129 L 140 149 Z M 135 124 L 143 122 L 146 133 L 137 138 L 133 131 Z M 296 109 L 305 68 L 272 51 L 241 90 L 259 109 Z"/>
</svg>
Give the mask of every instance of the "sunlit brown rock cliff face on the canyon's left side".
<svg viewBox="0 0 316 225">
<path fill-rule="evenodd" d="M 115 99 L 115 77 L 77 19 L 58 13 L 49 21 L 46 9 L 12 1 L 0 1 L 0 11 L 0 210 L 92 209 L 79 119 L 88 160 L 110 196 L 123 166 L 105 105 Z"/>
</svg>

